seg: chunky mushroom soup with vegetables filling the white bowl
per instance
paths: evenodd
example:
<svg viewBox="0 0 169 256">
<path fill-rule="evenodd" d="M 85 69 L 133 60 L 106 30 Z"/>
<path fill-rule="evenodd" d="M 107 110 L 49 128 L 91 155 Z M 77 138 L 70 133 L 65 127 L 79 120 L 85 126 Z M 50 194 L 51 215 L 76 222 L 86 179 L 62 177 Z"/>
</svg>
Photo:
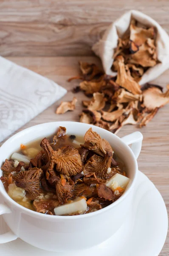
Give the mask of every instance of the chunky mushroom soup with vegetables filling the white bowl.
<svg viewBox="0 0 169 256">
<path fill-rule="evenodd" d="M 85 137 L 59 127 L 52 138 L 20 145 L 1 167 L 8 195 L 49 215 L 79 215 L 102 209 L 124 192 L 129 178 L 109 142 L 90 128 Z"/>
</svg>

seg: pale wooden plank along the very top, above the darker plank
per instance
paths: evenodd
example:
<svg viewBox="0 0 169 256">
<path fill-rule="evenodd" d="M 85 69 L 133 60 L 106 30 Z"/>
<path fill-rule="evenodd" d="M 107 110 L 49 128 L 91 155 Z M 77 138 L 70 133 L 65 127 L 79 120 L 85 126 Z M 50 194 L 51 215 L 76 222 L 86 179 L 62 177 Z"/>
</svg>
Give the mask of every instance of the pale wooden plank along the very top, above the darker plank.
<svg viewBox="0 0 169 256">
<path fill-rule="evenodd" d="M 136 9 L 161 24 L 169 24 L 166 0 L 5 0 L 0 1 L 0 20 L 64 25 L 111 22 Z"/>
</svg>

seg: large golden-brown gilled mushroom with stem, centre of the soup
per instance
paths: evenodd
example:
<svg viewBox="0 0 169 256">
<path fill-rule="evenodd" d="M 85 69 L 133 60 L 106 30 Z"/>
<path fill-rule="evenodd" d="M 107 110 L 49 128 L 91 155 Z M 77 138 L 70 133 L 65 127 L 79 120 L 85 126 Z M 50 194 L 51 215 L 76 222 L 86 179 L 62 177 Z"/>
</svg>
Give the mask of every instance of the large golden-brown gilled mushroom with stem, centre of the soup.
<svg viewBox="0 0 169 256">
<path fill-rule="evenodd" d="M 55 165 L 55 170 L 57 172 L 68 176 L 76 175 L 81 172 L 81 158 L 78 150 L 73 146 L 68 145 L 54 151 L 46 138 L 42 140 L 40 145 L 46 151 L 48 160 L 50 161 L 50 166 L 48 168 L 49 173 L 54 170 Z"/>
</svg>

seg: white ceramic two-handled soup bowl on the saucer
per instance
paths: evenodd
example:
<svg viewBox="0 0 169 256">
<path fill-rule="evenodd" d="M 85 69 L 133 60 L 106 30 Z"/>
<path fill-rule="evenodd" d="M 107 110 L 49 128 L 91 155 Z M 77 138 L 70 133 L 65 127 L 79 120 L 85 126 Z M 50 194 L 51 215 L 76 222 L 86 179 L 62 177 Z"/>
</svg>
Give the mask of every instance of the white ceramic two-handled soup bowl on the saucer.
<svg viewBox="0 0 169 256">
<path fill-rule="evenodd" d="M 120 139 L 102 128 L 79 122 L 49 122 L 27 128 L 8 139 L 0 148 L 0 166 L 6 158 L 33 140 L 48 137 L 59 126 L 65 126 L 68 134 L 84 136 L 92 127 L 102 138 L 108 140 L 113 150 L 127 166 L 130 182 L 124 194 L 113 204 L 86 215 L 52 216 L 31 211 L 13 201 L 0 182 L 0 215 L 11 231 L 0 235 L 0 243 L 19 237 L 23 241 L 44 250 L 66 251 L 92 247 L 112 236 L 124 223 L 131 212 L 133 190 L 138 172 L 137 157 L 141 151 L 143 136 L 140 132 Z M 132 149 L 128 146 L 132 144 Z M 0 170 L 0 176 L 2 171 Z M 111 224 L 111 225 L 110 225 Z M 111 227 L 111 228 L 110 228 Z"/>
</svg>

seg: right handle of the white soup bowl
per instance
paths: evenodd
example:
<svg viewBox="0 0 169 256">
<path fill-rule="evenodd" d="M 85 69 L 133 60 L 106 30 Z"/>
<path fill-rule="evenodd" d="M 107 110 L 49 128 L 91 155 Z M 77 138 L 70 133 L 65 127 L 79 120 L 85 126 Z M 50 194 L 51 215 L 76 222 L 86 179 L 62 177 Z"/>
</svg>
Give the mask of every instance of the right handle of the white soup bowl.
<svg viewBox="0 0 169 256">
<path fill-rule="evenodd" d="M 141 132 L 135 131 L 132 134 L 122 137 L 121 140 L 127 145 L 132 144 L 131 149 L 135 155 L 135 158 L 137 159 L 141 151 L 141 145 L 143 140 L 143 135 L 141 134 Z"/>
</svg>

